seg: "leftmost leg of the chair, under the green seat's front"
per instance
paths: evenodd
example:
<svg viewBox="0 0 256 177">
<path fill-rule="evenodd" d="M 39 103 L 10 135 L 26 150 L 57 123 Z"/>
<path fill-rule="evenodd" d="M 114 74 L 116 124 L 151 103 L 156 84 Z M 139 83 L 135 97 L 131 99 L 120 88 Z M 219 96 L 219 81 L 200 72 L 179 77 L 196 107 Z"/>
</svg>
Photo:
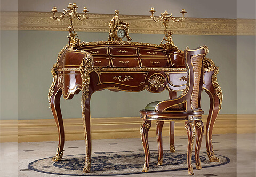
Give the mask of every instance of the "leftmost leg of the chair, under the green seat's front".
<svg viewBox="0 0 256 177">
<path fill-rule="evenodd" d="M 146 117 L 146 116 L 145 116 Z M 144 119 L 140 127 L 140 135 L 143 144 L 145 162 L 142 172 L 148 172 L 149 168 L 149 146 L 148 146 L 148 131 L 151 128 L 151 120 Z"/>
</svg>

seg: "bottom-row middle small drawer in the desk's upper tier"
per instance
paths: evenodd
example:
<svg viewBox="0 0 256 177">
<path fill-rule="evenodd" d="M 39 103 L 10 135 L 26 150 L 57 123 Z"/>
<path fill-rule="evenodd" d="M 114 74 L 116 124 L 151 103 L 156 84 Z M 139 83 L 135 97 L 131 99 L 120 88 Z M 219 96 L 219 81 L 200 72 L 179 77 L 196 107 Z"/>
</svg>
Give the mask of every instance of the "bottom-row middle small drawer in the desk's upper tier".
<svg viewBox="0 0 256 177">
<path fill-rule="evenodd" d="M 138 58 L 111 58 L 113 67 L 140 67 Z"/>
</svg>

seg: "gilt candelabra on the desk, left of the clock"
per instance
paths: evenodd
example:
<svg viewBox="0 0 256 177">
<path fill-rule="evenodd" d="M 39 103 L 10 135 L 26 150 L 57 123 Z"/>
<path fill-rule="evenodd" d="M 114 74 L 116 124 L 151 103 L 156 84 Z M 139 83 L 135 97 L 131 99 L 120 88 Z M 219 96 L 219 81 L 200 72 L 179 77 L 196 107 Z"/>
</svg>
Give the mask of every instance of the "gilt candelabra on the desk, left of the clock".
<svg viewBox="0 0 256 177">
<path fill-rule="evenodd" d="M 65 14 L 67 14 L 67 17 L 69 17 L 69 20 L 70 20 L 70 26 L 68 27 L 68 30 L 69 30 L 69 46 L 74 46 L 75 44 L 79 45 L 79 39 L 75 38 L 75 36 L 79 37 L 74 29 L 74 26 L 73 26 L 73 20 L 74 18 L 76 18 L 77 20 L 80 20 L 80 21 L 84 21 L 85 19 L 88 19 L 89 17 L 87 17 L 87 12 L 89 12 L 87 10 L 86 7 L 84 7 L 83 9 L 83 17 L 81 17 L 81 15 L 79 15 L 79 13 L 76 12 L 76 9 L 78 8 L 78 6 L 76 5 L 76 3 L 69 3 L 68 4 L 68 7 L 67 7 L 69 10 L 65 10 L 63 9 L 64 12 L 62 12 L 62 14 L 60 15 L 60 18 L 58 18 L 57 16 L 55 16 L 56 12 L 57 11 L 57 8 L 56 7 L 53 7 L 51 12 L 53 12 L 53 15 L 50 17 L 51 19 L 54 19 L 56 21 L 60 21 L 62 20 L 64 17 L 65 17 Z M 74 34 L 73 34 L 74 32 Z"/>
</svg>

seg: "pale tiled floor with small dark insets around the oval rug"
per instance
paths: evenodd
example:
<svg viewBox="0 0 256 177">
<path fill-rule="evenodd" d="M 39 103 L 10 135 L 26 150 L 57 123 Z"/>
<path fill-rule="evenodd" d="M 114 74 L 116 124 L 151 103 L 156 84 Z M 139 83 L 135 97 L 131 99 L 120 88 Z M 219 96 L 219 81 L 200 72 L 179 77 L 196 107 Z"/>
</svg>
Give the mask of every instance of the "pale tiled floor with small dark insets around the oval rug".
<svg viewBox="0 0 256 177">
<path fill-rule="evenodd" d="M 215 154 L 228 157 L 230 163 L 217 167 L 194 170 L 194 176 L 246 176 L 254 177 L 256 165 L 255 134 L 218 134 L 213 135 Z M 149 138 L 150 150 L 157 150 L 156 138 Z M 27 142 L 27 143 L 1 143 L 0 176 L 60 176 L 39 173 L 28 170 L 28 164 L 34 160 L 54 156 L 57 151 L 57 141 Z M 175 136 L 177 150 L 187 149 L 186 136 Z M 185 146 L 184 146 L 185 145 Z M 169 149 L 169 138 L 163 138 L 164 150 Z M 93 140 L 92 153 L 134 151 L 141 150 L 141 139 L 109 139 Z M 201 151 L 205 152 L 205 140 Z M 64 155 L 84 154 L 84 141 L 66 141 Z M 194 165 L 194 164 L 193 164 Z M 149 168 L 150 169 L 150 168 Z M 145 173 L 128 176 L 188 176 L 187 170 Z"/>
</svg>

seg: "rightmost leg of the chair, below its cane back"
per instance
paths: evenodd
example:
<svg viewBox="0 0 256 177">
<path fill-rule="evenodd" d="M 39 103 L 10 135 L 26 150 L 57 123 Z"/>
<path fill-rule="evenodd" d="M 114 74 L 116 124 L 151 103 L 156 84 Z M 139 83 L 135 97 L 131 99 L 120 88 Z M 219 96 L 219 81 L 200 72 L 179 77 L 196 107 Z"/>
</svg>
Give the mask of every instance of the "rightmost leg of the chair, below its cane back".
<svg viewBox="0 0 256 177">
<path fill-rule="evenodd" d="M 203 139 L 203 133 L 204 133 L 204 124 L 202 120 L 196 120 L 195 121 L 195 127 L 196 127 L 196 150 L 195 150 L 195 156 L 196 156 L 196 169 L 200 170 L 202 169 L 201 162 L 200 162 L 200 148 L 201 143 Z"/>
</svg>

